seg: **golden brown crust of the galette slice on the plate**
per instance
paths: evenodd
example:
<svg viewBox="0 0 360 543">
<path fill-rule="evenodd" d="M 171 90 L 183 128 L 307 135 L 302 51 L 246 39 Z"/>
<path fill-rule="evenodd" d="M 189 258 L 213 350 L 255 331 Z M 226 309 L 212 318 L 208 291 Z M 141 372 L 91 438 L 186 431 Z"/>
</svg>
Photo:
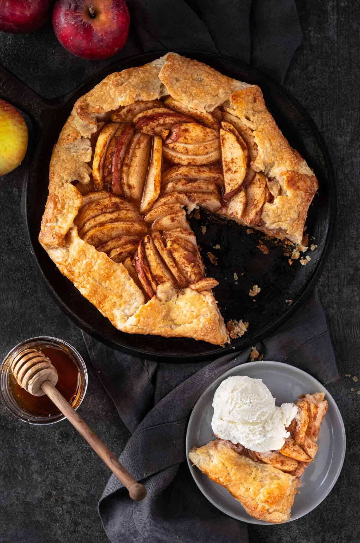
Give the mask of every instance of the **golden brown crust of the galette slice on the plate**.
<svg viewBox="0 0 360 543">
<path fill-rule="evenodd" d="M 268 464 L 237 454 L 226 441 L 209 441 L 192 449 L 197 468 L 239 500 L 255 519 L 280 523 L 290 518 L 299 479 Z"/>
</svg>

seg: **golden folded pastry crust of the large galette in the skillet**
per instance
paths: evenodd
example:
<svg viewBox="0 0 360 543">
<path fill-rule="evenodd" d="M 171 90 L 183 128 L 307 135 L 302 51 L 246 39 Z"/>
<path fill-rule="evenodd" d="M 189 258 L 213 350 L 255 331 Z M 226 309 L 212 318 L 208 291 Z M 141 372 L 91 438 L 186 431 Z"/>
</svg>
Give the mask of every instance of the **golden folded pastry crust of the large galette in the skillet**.
<svg viewBox="0 0 360 543">
<path fill-rule="evenodd" d="M 266 109 L 259 87 L 228 78 L 201 62 L 175 53 L 168 53 L 144 66 L 110 74 L 77 100 L 50 161 L 49 195 L 39 241 L 62 273 L 119 329 L 131 333 L 188 336 L 222 344 L 228 336 L 211 292 L 190 293 L 186 289 L 178 294 L 176 303 L 155 298 L 143 305 L 143 294 L 125 268 L 111 262 L 104 254 L 100 256 L 85 242 L 80 243 L 73 228 L 82 196 L 72 182 L 80 181 L 86 186 L 91 180 L 90 138 L 97 132 L 98 123 L 119 106 L 138 100 L 158 99 L 166 94 L 200 111 L 211 111 L 224 102 L 231 103 L 232 114 L 239 116 L 244 123 L 247 116 L 252 116 L 247 137 L 251 140 L 254 136 L 258 144 L 254 165 L 268 167 L 273 162 L 272 173 L 282 186 L 281 196 L 273 204 L 263 206 L 259 228 L 278 237 L 301 241 L 307 207 L 317 188 L 316 178 L 281 135 Z M 232 218 L 237 220 L 236 205 L 234 207 Z M 101 287 L 101 292 L 96 292 L 93 271 L 76 262 L 80 254 L 91 255 L 101 269 L 104 267 L 106 287 Z M 121 272 L 112 276 L 110 270 L 115 269 Z M 85 275 L 81 278 L 82 273 Z M 86 286 L 87 280 L 91 285 Z M 121 291 L 121 285 L 126 288 L 120 295 L 115 291 L 117 288 Z M 190 300 L 193 304 L 191 311 Z M 131 311 L 136 308 L 134 314 L 129 315 L 128 323 L 124 317 L 126 304 Z"/>
</svg>

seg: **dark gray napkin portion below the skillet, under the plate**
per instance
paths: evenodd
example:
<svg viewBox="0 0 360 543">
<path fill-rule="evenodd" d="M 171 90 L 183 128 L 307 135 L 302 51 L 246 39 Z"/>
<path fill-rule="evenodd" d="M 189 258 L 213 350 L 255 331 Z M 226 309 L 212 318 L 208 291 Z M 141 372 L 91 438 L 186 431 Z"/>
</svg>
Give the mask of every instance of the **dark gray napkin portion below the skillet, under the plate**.
<svg viewBox="0 0 360 543">
<path fill-rule="evenodd" d="M 136 358 L 83 334 L 100 381 L 132 432 L 120 462 L 144 482 L 133 503 L 115 476 L 99 502 L 112 543 L 248 541 L 247 526 L 215 509 L 190 476 L 185 432 L 192 406 L 219 375 L 248 361 L 250 349 L 211 363 L 165 364 Z M 316 293 L 273 336 L 256 344 L 265 360 L 296 365 L 326 384 L 338 378 L 325 315 Z M 256 362 L 254 362 L 256 364 Z"/>
</svg>

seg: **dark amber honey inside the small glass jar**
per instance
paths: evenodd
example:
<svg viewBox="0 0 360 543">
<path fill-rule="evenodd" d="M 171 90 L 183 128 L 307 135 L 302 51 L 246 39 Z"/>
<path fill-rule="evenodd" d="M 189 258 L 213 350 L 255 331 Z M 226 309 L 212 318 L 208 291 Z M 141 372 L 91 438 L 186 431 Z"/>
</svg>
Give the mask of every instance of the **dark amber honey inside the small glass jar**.
<svg viewBox="0 0 360 543">
<path fill-rule="evenodd" d="M 78 392 L 81 376 L 78 365 L 70 353 L 55 346 L 37 345 L 35 348 L 43 352 L 55 366 L 57 371 L 55 388 L 59 390 L 69 403 L 72 403 Z M 44 396 L 33 396 L 21 388 L 15 381 L 12 373 L 9 375 L 9 384 L 14 399 L 28 413 L 35 416 L 49 416 L 60 413 L 59 409 L 46 394 Z"/>
</svg>

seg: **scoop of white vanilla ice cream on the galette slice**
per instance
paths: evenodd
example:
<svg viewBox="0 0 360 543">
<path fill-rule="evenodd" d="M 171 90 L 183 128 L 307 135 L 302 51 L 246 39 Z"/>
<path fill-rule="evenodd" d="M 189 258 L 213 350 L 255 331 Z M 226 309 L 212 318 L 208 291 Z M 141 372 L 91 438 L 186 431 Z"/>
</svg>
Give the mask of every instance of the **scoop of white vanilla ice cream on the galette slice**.
<svg viewBox="0 0 360 543">
<path fill-rule="evenodd" d="M 294 403 L 275 406 L 275 398 L 261 379 L 236 375 L 216 389 L 211 421 L 221 439 L 265 452 L 281 449 L 290 433 L 285 430 L 298 412 Z"/>
</svg>

